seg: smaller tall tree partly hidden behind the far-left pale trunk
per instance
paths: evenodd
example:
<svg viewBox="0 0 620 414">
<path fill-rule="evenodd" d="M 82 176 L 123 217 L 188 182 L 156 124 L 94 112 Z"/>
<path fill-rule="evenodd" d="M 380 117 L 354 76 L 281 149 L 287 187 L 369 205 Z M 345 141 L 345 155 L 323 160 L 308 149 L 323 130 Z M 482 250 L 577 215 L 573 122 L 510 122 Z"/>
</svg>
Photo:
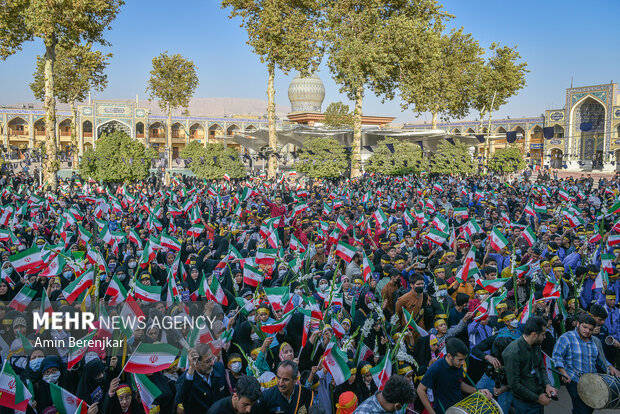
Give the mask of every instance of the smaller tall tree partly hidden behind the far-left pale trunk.
<svg viewBox="0 0 620 414">
<path fill-rule="evenodd" d="M 103 91 L 108 76 L 103 73 L 111 53 L 92 50 L 92 43 L 59 44 L 54 64 L 54 94 L 60 102 L 71 105 L 71 144 L 74 147 L 73 165 L 78 165 L 77 103 L 84 101 L 89 90 Z M 30 89 L 37 100 L 45 98 L 45 58 L 37 56 L 37 68 Z"/>
</svg>

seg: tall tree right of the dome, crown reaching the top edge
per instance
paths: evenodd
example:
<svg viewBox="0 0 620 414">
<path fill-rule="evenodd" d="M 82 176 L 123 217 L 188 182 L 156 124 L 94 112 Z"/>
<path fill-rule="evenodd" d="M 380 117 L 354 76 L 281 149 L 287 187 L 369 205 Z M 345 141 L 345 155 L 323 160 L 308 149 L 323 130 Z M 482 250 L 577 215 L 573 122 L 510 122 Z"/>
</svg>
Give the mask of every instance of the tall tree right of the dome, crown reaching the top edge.
<svg viewBox="0 0 620 414">
<path fill-rule="evenodd" d="M 362 104 L 368 86 L 391 98 L 394 50 L 435 25 L 444 13 L 434 0 L 327 0 L 327 66 L 340 91 L 355 102 L 351 176 L 360 175 Z M 408 29 L 415 30 L 408 30 Z"/>
</svg>

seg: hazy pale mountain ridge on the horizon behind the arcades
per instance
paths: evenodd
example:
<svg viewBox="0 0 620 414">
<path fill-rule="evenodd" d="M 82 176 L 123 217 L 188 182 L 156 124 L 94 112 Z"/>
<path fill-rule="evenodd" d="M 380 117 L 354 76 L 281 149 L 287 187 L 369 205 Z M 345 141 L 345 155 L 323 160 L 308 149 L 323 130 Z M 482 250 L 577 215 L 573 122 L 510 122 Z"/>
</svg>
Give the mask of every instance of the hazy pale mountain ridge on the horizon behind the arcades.
<svg viewBox="0 0 620 414">
<path fill-rule="evenodd" d="M 130 99 L 112 99 L 108 102 L 135 102 Z M 153 114 L 162 114 L 156 101 L 149 102 L 141 99 L 138 102 L 139 107 L 148 108 Z M 41 102 L 27 102 L 6 105 L 10 108 L 29 108 L 33 106 L 36 109 L 42 109 Z M 57 103 L 56 109 L 68 111 L 69 105 Z M 276 105 L 276 116 L 284 118 L 291 111 L 289 106 Z M 181 115 L 182 110 L 173 111 L 173 115 Z M 261 99 L 249 98 L 193 98 L 189 104 L 190 115 L 211 116 L 214 118 L 223 118 L 224 116 L 248 115 L 248 116 L 267 116 L 267 101 Z"/>
</svg>

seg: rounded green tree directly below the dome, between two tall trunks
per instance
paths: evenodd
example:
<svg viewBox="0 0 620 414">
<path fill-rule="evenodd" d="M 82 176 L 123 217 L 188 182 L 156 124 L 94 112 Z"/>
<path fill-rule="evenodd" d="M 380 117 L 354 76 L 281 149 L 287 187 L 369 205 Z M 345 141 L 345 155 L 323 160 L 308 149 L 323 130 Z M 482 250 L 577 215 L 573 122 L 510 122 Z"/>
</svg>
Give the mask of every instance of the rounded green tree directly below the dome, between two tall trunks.
<svg viewBox="0 0 620 414">
<path fill-rule="evenodd" d="M 348 166 L 348 154 L 334 138 L 309 138 L 294 168 L 311 178 L 331 178 L 342 176 Z"/>
</svg>

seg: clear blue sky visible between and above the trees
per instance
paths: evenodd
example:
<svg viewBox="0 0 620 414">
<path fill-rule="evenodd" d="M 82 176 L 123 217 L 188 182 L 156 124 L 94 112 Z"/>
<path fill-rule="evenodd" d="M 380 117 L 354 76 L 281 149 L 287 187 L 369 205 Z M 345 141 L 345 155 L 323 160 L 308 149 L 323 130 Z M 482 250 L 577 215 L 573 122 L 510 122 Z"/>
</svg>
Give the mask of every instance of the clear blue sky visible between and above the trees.
<svg viewBox="0 0 620 414">
<path fill-rule="evenodd" d="M 267 99 L 267 71 L 245 43 L 240 20 L 228 18 L 218 0 L 127 0 L 106 38 L 114 54 L 108 68 L 108 88 L 99 99 L 145 99 L 151 59 L 168 50 L 192 59 L 200 85 L 195 97 Z M 494 117 L 538 116 L 545 109 L 562 108 L 565 89 L 620 81 L 620 48 L 614 16 L 620 1 L 577 0 L 445 0 L 445 9 L 483 47 L 496 41 L 518 45 L 528 63 L 527 86 L 500 108 Z M 33 101 L 28 87 L 41 42 L 0 61 L 0 103 Z M 325 60 L 325 59 L 324 59 Z M 326 87 L 323 109 L 342 100 L 338 85 L 322 65 Z M 276 102 L 289 105 L 287 88 L 294 74 L 276 75 Z M 352 108 L 352 105 L 350 105 Z M 381 103 L 371 93 L 364 114 L 397 116 L 396 122 L 430 121 L 430 116 L 403 112 L 400 101 Z M 468 119 L 475 119 L 470 114 Z"/>
</svg>

